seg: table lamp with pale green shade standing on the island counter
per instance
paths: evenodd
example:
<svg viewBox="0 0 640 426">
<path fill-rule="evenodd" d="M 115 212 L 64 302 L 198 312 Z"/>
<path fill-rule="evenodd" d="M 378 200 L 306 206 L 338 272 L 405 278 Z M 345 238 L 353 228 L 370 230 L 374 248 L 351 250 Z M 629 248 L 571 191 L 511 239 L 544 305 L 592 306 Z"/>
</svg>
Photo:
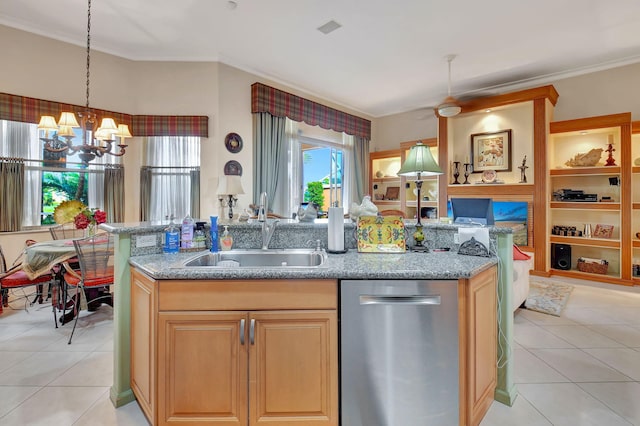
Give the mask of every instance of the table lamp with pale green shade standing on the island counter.
<svg viewBox="0 0 640 426">
<path fill-rule="evenodd" d="M 411 147 L 407 159 L 398 171 L 399 176 L 415 176 L 416 178 L 416 189 L 418 190 L 418 193 L 416 194 L 418 197 L 418 221 L 416 222 L 416 231 L 413 233 L 415 245 L 411 247 L 412 251 L 427 251 L 427 248 L 422 243 L 424 241 L 424 232 L 422 231 L 422 223 L 420 221 L 420 216 L 422 216 L 420 212 L 420 200 L 422 199 L 421 177 L 441 174 L 442 170 L 436 163 L 436 160 L 434 160 L 433 155 L 431 155 L 431 150 L 427 145 L 424 145 L 422 141 L 418 141 L 417 144 Z"/>
</svg>

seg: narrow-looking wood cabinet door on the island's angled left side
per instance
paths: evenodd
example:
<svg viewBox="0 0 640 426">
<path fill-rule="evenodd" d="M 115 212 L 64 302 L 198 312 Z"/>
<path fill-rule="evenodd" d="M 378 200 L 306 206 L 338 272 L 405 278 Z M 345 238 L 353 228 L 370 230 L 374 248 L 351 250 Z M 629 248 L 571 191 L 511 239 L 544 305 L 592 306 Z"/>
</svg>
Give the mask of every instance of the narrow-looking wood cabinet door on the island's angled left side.
<svg viewBox="0 0 640 426">
<path fill-rule="evenodd" d="M 131 389 L 149 421 L 155 423 L 155 283 L 131 274 Z"/>
</svg>

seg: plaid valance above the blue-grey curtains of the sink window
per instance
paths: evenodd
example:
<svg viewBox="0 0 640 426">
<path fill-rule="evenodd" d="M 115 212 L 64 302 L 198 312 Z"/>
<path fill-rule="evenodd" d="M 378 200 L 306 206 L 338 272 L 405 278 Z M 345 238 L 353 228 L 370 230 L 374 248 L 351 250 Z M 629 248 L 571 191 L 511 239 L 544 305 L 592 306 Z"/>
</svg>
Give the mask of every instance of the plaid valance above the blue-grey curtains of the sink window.
<svg viewBox="0 0 640 426">
<path fill-rule="evenodd" d="M 371 139 L 371 121 L 310 101 L 282 90 L 253 83 L 251 113 L 268 112 L 276 117 L 304 121 L 312 126 Z"/>
</svg>

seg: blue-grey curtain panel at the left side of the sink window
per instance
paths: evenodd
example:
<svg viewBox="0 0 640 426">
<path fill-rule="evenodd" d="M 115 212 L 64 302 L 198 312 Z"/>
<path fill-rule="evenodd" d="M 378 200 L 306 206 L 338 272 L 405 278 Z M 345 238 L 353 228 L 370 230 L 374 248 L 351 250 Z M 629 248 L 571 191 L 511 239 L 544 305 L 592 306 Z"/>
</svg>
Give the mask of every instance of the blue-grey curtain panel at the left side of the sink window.
<svg viewBox="0 0 640 426">
<path fill-rule="evenodd" d="M 255 151 L 253 153 L 253 202 L 260 202 L 260 194 L 266 192 L 269 206 L 273 206 L 276 191 L 289 187 L 288 181 L 282 181 L 279 171 L 284 150 L 285 135 L 284 117 L 274 117 L 269 113 L 253 114 L 253 137 Z M 271 210 L 271 209 L 270 209 Z"/>
</svg>

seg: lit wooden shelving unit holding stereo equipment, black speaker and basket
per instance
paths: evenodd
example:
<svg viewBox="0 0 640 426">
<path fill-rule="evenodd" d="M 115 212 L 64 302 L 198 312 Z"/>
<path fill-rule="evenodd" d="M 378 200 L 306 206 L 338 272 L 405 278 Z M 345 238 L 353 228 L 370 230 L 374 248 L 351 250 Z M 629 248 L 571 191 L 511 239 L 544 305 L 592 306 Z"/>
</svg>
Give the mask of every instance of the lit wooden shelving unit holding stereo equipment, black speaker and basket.
<svg viewBox="0 0 640 426">
<path fill-rule="evenodd" d="M 552 275 L 632 284 L 630 129 L 629 113 L 550 124 L 546 260 Z M 613 164 L 607 161 L 609 143 Z M 571 163 L 598 149 L 602 153 L 596 153 L 595 164 Z M 577 235 L 554 234 L 554 226 L 574 229 Z M 601 235 L 602 227 L 613 227 L 611 235 Z M 606 271 L 580 270 L 579 258 L 606 261 Z"/>
</svg>

